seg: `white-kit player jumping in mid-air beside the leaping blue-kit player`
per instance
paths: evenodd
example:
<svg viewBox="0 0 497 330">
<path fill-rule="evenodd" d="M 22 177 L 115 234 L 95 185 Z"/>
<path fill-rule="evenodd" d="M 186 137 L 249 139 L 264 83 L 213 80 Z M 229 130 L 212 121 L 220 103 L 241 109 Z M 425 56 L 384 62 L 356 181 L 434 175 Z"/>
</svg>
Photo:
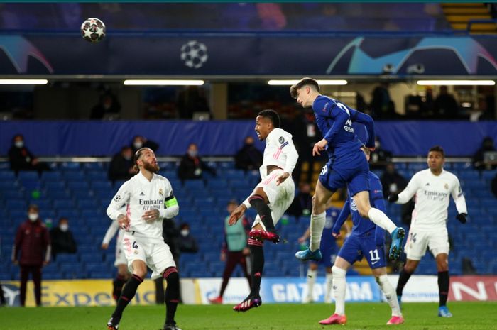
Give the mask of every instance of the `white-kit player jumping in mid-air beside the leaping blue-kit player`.
<svg viewBox="0 0 497 330">
<path fill-rule="evenodd" d="M 292 135 L 280 127 L 280 116 L 274 110 L 263 110 L 256 117 L 256 133 L 259 140 L 266 140 L 263 164 L 260 167 L 261 183 L 251 195 L 229 216 L 229 224 L 235 224 L 245 211 L 253 207 L 257 211 L 249 233 L 251 255 L 251 292 L 243 302 L 233 307 L 236 312 L 246 312 L 262 304 L 259 291 L 264 267 L 263 241 L 278 243 L 275 231 L 283 213 L 290 207 L 295 195 L 291 177 L 298 154 Z"/>
</svg>

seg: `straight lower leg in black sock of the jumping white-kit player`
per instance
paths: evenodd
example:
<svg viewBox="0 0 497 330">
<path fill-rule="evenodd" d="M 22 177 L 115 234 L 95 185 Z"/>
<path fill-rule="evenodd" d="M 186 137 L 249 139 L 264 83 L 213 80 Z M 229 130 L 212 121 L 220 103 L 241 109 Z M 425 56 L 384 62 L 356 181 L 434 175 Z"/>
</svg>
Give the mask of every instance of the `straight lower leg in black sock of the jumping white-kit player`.
<svg viewBox="0 0 497 330">
<path fill-rule="evenodd" d="M 246 312 L 262 304 L 259 291 L 261 290 L 262 271 L 264 268 L 263 241 L 249 238 L 250 258 L 251 258 L 251 291 L 249 297 L 233 307 L 235 312 Z"/>
</svg>

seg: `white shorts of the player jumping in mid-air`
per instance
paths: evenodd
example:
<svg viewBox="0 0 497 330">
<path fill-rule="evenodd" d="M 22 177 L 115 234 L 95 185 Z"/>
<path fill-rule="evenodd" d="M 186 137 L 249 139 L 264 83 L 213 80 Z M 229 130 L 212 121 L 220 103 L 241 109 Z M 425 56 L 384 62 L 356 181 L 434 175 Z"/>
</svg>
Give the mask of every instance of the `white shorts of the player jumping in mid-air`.
<svg viewBox="0 0 497 330">
<path fill-rule="evenodd" d="M 295 197 L 295 184 L 293 183 L 292 177 L 288 177 L 279 186 L 276 185 L 276 179 L 283 173 L 283 170 L 273 170 L 265 177 L 257 186 L 261 187 L 269 199 L 269 208 L 271 209 L 271 217 L 273 218 L 273 223 L 276 226 L 278 221 L 280 221 L 281 216 L 290 207 Z M 261 218 L 257 215 L 256 220 L 253 221 L 252 227 L 257 224 L 261 224 L 262 228 L 266 230 Z"/>
</svg>

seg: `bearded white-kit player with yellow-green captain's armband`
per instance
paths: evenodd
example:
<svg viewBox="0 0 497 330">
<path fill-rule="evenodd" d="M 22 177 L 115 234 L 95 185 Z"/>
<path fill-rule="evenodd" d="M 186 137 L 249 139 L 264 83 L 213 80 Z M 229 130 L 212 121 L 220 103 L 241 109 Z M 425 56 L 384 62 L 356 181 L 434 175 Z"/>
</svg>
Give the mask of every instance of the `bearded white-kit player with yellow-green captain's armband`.
<svg viewBox="0 0 497 330">
<path fill-rule="evenodd" d="M 124 182 L 107 208 L 109 218 L 118 221 L 124 229 L 122 244 L 132 272 L 107 327 L 109 330 L 119 328 L 124 308 L 143 282 L 148 266 L 153 271 L 152 279 L 162 276 L 168 282 L 163 329 L 179 330 L 174 316 L 180 297 L 180 279 L 173 255 L 162 237 L 162 221 L 178 214 L 178 202 L 169 180 L 155 174 L 159 167 L 151 149 L 136 151 L 134 164 L 138 174 Z M 123 204 L 126 204 L 125 213 L 122 211 Z"/>
</svg>

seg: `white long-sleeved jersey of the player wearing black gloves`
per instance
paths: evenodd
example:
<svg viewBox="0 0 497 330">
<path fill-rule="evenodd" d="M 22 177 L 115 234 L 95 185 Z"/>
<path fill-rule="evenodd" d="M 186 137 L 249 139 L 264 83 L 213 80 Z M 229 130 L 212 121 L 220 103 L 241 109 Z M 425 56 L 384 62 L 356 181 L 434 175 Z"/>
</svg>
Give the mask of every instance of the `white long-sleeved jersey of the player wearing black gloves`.
<svg viewBox="0 0 497 330">
<path fill-rule="evenodd" d="M 468 213 L 459 180 L 446 170 L 442 170 L 440 175 L 433 175 L 430 169 L 417 172 L 398 195 L 397 203 L 405 204 L 414 195 L 412 228 L 430 230 L 446 226 L 450 195 L 456 203 L 457 211 Z"/>
</svg>

